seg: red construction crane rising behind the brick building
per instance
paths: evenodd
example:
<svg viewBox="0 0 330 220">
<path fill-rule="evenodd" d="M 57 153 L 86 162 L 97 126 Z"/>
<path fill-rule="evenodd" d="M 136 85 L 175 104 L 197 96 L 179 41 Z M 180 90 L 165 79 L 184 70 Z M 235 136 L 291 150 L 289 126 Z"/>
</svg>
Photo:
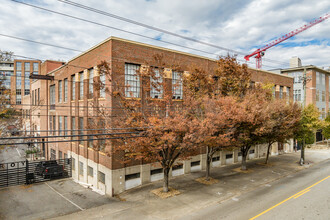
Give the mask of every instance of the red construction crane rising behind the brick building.
<svg viewBox="0 0 330 220">
<path fill-rule="evenodd" d="M 330 17 L 329 14 L 326 14 L 322 17 L 319 17 L 317 19 L 315 19 L 314 21 L 312 22 L 309 22 L 308 24 L 305 24 L 304 26 L 294 30 L 294 31 L 291 31 L 289 32 L 288 34 L 286 35 L 283 35 L 282 37 L 270 42 L 269 44 L 257 49 L 256 51 L 254 51 L 253 53 L 249 54 L 249 55 L 246 55 L 244 58 L 246 61 L 249 61 L 250 60 L 250 57 L 253 57 L 255 56 L 254 58 L 256 58 L 256 67 L 257 69 L 261 69 L 261 66 L 262 66 L 262 57 L 265 55 L 265 51 L 297 34 L 299 34 L 300 32 L 303 32 L 304 30 L 307 30 L 308 28 L 311 28 L 313 27 L 314 25 L 318 24 L 318 23 L 321 23 L 322 21 L 328 19 Z"/>
</svg>

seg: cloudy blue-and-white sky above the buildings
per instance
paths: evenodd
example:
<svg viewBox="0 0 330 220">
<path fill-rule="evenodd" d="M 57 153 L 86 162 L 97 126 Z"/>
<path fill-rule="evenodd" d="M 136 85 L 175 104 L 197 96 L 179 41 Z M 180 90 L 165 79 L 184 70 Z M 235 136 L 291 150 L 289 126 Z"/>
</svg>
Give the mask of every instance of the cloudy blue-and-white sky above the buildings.
<svg viewBox="0 0 330 220">
<path fill-rule="evenodd" d="M 227 50 L 219 49 L 226 48 L 234 50 L 230 54 L 236 54 L 237 59 L 244 63 L 244 54 L 248 55 L 272 40 L 330 13 L 329 0 L 71 0 L 217 46 L 214 47 L 77 8 L 59 0 L 15 1 L 108 26 L 73 19 L 12 0 L 1 0 L 0 50 L 40 60 L 61 61 L 68 61 L 79 55 L 79 51 L 88 50 L 108 37 L 116 36 L 210 58 L 227 55 Z M 13 39 L 8 35 L 70 50 Z M 263 69 L 288 68 L 293 56 L 300 57 L 303 65 L 330 67 L 329 54 L 330 18 L 268 49 L 263 59 Z M 252 58 L 248 65 L 255 67 L 255 59 Z"/>
</svg>

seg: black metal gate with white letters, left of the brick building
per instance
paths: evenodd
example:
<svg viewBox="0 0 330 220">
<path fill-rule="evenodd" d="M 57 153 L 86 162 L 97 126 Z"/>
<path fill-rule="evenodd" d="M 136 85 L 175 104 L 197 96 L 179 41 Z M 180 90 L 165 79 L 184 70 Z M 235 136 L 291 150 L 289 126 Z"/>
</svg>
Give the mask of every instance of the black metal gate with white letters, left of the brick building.
<svg viewBox="0 0 330 220">
<path fill-rule="evenodd" d="M 0 164 L 0 188 L 72 176 L 71 158 Z"/>
</svg>

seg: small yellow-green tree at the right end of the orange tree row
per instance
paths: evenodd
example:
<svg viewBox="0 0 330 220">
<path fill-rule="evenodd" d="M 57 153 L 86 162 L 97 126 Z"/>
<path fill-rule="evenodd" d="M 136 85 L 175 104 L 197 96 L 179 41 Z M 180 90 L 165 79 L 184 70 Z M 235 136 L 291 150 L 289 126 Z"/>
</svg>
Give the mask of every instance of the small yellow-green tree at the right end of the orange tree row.
<svg viewBox="0 0 330 220">
<path fill-rule="evenodd" d="M 299 127 L 295 132 L 295 138 L 302 143 L 300 165 L 305 163 L 305 147 L 308 137 L 313 136 L 314 132 L 322 127 L 320 113 L 317 108 L 310 104 L 302 111 Z"/>
</svg>

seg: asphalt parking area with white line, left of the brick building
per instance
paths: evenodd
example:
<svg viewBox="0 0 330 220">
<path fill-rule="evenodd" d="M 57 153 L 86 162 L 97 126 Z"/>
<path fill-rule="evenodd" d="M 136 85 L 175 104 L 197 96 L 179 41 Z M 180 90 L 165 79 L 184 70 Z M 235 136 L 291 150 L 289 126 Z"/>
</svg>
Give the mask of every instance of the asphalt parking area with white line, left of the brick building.
<svg viewBox="0 0 330 220">
<path fill-rule="evenodd" d="M 0 219 L 48 219 L 116 202 L 72 179 L 0 189 Z"/>
</svg>

